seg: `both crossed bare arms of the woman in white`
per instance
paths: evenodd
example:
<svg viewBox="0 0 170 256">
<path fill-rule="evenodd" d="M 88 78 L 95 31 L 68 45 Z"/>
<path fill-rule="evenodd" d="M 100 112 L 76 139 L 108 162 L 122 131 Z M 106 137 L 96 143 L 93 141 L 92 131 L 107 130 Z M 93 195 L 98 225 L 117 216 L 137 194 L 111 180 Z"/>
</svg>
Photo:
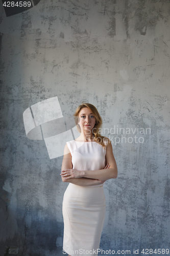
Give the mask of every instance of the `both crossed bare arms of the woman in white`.
<svg viewBox="0 0 170 256">
<path fill-rule="evenodd" d="M 117 177 L 117 165 L 113 156 L 111 142 L 106 149 L 106 166 L 100 170 L 76 170 L 72 169 L 71 154 L 67 144 L 64 148 L 64 157 L 61 167 L 61 178 L 63 182 L 70 182 L 80 186 L 92 186 L 103 184 L 106 180 Z"/>
</svg>

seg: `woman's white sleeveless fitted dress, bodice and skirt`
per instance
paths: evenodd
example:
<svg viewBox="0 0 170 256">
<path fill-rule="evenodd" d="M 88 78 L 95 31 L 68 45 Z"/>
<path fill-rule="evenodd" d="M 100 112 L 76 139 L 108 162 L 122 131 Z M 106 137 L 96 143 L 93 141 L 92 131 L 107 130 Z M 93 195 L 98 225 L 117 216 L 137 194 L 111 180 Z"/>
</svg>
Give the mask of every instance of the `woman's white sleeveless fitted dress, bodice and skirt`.
<svg viewBox="0 0 170 256">
<path fill-rule="evenodd" d="M 73 169 L 104 169 L 106 148 L 99 143 L 72 140 L 67 146 Z M 103 184 L 79 186 L 69 183 L 63 198 L 63 250 L 71 256 L 98 255 L 105 212 Z"/>
</svg>

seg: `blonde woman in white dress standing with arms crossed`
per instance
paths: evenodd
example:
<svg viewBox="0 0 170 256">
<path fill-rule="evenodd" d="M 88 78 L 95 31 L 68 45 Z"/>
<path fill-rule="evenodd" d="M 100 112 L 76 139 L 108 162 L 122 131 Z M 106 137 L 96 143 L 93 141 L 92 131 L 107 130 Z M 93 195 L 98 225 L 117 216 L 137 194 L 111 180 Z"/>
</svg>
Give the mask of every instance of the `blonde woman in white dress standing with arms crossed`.
<svg viewBox="0 0 170 256">
<path fill-rule="evenodd" d="M 75 112 L 81 135 L 66 143 L 61 177 L 69 182 L 63 199 L 63 250 L 68 256 L 98 255 L 105 219 L 103 183 L 117 177 L 108 138 L 99 134 L 102 118 L 95 106 L 83 103 Z"/>
</svg>

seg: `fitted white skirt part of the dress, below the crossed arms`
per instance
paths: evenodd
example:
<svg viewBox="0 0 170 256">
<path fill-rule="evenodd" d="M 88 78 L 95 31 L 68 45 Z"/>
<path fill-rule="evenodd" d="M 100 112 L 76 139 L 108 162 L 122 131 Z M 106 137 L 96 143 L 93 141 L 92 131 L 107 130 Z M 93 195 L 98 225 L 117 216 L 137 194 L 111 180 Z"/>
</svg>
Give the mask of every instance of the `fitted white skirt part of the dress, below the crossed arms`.
<svg viewBox="0 0 170 256">
<path fill-rule="evenodd" d="M 71 256 L 98 255 L 105 212 L 103 185 L 69 183 L 63 198 L 63 250 Z"/>
</svg>

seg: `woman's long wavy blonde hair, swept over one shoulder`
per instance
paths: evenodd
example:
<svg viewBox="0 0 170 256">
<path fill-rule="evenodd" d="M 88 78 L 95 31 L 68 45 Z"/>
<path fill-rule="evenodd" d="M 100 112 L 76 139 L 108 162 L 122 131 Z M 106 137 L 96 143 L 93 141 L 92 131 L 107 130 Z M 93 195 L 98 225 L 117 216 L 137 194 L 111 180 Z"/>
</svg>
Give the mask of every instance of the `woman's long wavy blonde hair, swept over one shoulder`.
<svg viewBox="0 0 170 256">
<path fill-rule="evenodd" d="M 79 113 L 80 113 L 81 109 L 83 109 L 83 108 L 88 108 L 91 111 L 91 113 L 93 113 L 93 115 L 96 118 L 96 121 L 95 121 L 96 123 L 95 123 L 95 125 L 94 125 L 94 127 L 92 129 L 92 133 L 94 135 L 94 141 L 99 143 L 99 144 L 101 144 L 104 148 L 106 148 L 106 145 L 107 145 L 109 139 L 104 137 L 104 136 L 102 136 L 99 133 L 99 131 L 100 131 L 99 129 L 100 129 L 101 125 L 102 125 L 102 117 L 100 116 L 98 110 L 95 108 L 94 105 L 92 105 L 90 103 L 84 103 L 83 102 L 76 109 L 74 116 L 75 116 L 75 122 L 76 122 L 76 125 L 77 125 L 77 128 L 78 128 L 78 131 L 81 133 L 80 126 L 78 126 L 78 120 L 79 120 L 78 116 L 79 116 Z"/>
</svg>

